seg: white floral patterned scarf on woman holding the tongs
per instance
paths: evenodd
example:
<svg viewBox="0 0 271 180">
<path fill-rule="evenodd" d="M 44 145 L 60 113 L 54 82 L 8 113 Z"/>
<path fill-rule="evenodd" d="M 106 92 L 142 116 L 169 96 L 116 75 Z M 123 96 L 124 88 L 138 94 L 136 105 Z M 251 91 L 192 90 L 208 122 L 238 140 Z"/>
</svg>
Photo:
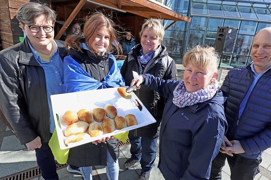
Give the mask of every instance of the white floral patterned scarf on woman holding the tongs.
<svg viewBox="0 0 271 180">
<path fill-rule="evenodd" d="M 182 80 L 173 91 L 173 104 L 177 107 L 186 107 L 205 102 L 216 94 L 218 86 L 219 84 L 215 80 L 205 88 L 189 93 L 184 86 L 184 80 Z"/>
</svg>

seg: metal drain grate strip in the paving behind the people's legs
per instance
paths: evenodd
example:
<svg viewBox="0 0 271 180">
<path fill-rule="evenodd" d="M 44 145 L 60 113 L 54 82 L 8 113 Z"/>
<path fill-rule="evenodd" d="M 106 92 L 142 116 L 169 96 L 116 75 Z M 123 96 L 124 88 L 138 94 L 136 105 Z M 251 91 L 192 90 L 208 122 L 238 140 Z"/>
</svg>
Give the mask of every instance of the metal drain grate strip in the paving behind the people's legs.
<svg viewBox="0 0 271 180">
<path fill-rule="evenodd" d="M 119 147 L 123 147 L 130 144 L 129 139 L 124 143 L 122 141 L 119 141 Z M 67 163 L 65 164 L 59 164 L 57 161 L 55 161 L 56 164 L 56 170 L 66 168 L 68 166 Z M 18 172 L 16 174 L 12 174 L 3 178 L 0 178 L 0 180 L 30 180 L 41 176 L 41 169 L 39 167 L 31 168 L 22 172 Z"/>
</svg>

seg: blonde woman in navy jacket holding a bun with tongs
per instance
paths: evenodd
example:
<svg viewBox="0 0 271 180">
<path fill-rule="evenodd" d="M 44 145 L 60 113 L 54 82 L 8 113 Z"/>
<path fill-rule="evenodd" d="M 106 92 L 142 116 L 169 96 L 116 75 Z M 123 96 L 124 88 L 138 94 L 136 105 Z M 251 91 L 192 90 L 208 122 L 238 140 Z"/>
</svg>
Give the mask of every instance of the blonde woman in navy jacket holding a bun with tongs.
<svg viewBox="0 0 271 180">
<path fill-rule="evenodd" d="M 218 55 L 197 46 L 183 57 L 184 79 L 163 80 L 142 74 L 132 80 L 168 98 L 163 111 L 158 168 L 166 180 L 208 180 L 227 122 L 216 80 Z M 144 86 L 140 84 L 143 83 Z"/>
</svg>

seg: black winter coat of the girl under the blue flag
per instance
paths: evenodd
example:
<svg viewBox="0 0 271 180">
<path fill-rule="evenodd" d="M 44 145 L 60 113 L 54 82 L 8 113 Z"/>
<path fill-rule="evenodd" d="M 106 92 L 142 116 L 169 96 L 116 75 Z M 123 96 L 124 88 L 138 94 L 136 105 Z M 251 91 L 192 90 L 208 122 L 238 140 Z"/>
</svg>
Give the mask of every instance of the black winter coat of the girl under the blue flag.
<svg viewBox="0 0 271 180">
<path fill-rule="evenodd" d="M 109 61 L 109 56 L 98 56 L 90 53 L 86 49 L 82 49 L 84 53 L 80 53 L 74 49 L 70 49 L 68 55 L 79 63 L 84 70 L 87 71 L 94 79 L 102 81 L 109 73 L 112 64 Z M 116 59 L 113 59 L 116 61 Z M 68 163 L 77 167 L 105 165 L 106 166 L 106 150 L 109 150 L 110 155 L 116 161 L 119 158 L 119 141 L 118 139 L 110 139 L 98 145 L 87 143 L 69 151 Z"/>
</svg>

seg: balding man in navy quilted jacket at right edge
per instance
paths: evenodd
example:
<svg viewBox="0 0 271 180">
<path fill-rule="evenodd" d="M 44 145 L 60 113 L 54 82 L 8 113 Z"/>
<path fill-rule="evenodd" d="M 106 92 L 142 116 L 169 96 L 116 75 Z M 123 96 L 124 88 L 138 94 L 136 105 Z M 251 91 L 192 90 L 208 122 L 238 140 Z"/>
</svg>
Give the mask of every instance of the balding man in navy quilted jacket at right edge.
<svg viewBox="0 0 271 180">
<path fill-rule="evenodd" d="M 221 179 L 226 159 L 231 180 L 253 180 L 263 151 L 271 147 L 271 27 L 255 34 L 251 59 L 230 70 L 221 87 L 229 129 L 212 162 L 211 180 Z"/>
</svg>

